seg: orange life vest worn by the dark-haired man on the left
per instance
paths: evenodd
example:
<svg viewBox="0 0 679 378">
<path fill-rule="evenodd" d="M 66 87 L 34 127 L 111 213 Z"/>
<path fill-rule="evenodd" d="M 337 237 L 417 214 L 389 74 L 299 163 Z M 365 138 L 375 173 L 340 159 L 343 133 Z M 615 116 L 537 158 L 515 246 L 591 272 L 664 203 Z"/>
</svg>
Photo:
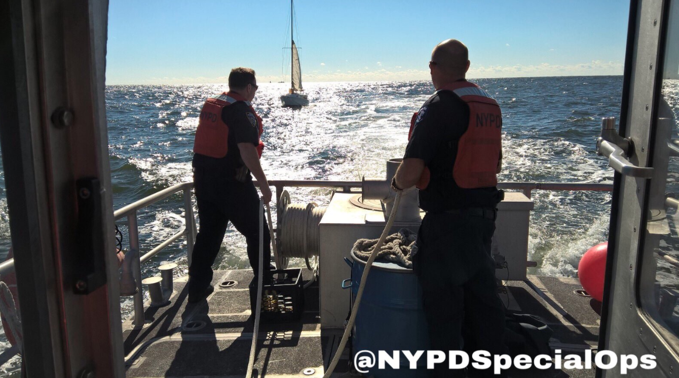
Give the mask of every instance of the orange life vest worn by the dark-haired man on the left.
<svg viewBox="0 0 679 378">
<path fill-rule="evenodd" d="M 263 132 L 261 117 L 257 114 L 250 101 L 245 100 L 242 96 L 233 93 L 222 93 L 217 96 L 208 98 L 203 109 L 200 111 L 200 119 L 198 121 L 198 128 L 196 129 L 196 140 L 194 140 L 194 152 L 200 155 L 210 157 L 225 157 L 229 151 L 229 126 L 221 119 L 221 111 L 224 107 L 232 105 L 236 101 L 243 101 L 245 105 L 250 107 L 257 122 L 257 130 L 259 138 Z M 257 154 L 261 157 L 264 150 L 264 143 L 259 139 L 257 145 Z"/>
</svg>

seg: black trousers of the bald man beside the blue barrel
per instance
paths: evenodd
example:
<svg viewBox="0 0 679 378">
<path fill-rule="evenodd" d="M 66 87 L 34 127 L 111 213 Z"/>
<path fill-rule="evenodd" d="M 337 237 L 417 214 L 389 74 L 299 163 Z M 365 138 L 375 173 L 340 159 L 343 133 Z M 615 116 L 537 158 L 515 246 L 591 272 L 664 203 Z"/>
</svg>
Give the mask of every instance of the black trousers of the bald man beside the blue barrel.
<svg viewBox="0 0 679 378">
<path fill-rule="evenodd" d="M 494 216 L 429 212 L 420 226 L 413 261 L 422 284 L 430 348 L 447 355 L 464 345 L 469 377 L 493 376 L 492 368 L 473 371 L 474 351 L 507 354 L 504 308 L 490 251 L 494 231 Z M 436 365 L 433 377 L 465 376 L 464 371 L 449 371 L 447 362 Z"/>
</svg>

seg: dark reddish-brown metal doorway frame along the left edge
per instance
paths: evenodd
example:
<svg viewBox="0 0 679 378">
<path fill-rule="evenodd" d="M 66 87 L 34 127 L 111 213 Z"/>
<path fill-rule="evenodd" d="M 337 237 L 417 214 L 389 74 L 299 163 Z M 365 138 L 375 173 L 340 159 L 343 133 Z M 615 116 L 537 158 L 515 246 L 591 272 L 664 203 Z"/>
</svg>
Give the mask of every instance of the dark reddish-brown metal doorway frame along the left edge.
<svg viewBox="0 0 679 378">
<path fill-rule="evenodd" d="M 0 143 L 29 377 L 125 374 L 107 12 L 106 0 L 0 1 Z M 98 183 L 92 195 L 80 179 Z"/>
</svg>

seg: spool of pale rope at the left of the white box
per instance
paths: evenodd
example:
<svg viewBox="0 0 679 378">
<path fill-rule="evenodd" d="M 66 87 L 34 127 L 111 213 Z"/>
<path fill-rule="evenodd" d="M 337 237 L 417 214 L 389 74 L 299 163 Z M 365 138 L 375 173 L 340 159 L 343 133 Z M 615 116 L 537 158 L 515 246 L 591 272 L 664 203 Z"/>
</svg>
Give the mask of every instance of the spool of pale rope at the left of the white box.
<svg viewBox="0 0 679 378">
<path fill-rule="evenodd" d="M 319 254 L 318 224 L 326 209 L 318 207 L 313 202 L 306 205 L 292 204 L 288 191 L 283 191 L 278 200 L 277 210 L 276 227 L 280 256 L 284 259 L 293 257 L 305 259 L 307 267 L 312 269 L 309 259 Z"/>
</svg>

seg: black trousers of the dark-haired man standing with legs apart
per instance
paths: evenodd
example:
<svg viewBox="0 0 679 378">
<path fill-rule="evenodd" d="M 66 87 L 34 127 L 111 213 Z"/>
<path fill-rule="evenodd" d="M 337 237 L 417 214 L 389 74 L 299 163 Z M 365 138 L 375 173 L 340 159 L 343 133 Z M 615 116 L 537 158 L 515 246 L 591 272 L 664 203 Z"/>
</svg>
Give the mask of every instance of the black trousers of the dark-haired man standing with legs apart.
<svg viewBox="0 0 679 378">
<path fill-rule="evenodd" d="M 252 180 L 240 183 L 225 174 L 194 168 L 194 191 L 198 202 L 200 230 L 189 267 L 189 292 L 201 292 L 212 281 L 215 263 L 226 227 L 231 222 L 245 236 L 248 259 L 257 276 L 259 269 L 259 195 Z M 269 270 L 271 238 L 264 221 L 263 269 Z M 265 275 L 265 278 L 267 275 Z"/>
</svg>

